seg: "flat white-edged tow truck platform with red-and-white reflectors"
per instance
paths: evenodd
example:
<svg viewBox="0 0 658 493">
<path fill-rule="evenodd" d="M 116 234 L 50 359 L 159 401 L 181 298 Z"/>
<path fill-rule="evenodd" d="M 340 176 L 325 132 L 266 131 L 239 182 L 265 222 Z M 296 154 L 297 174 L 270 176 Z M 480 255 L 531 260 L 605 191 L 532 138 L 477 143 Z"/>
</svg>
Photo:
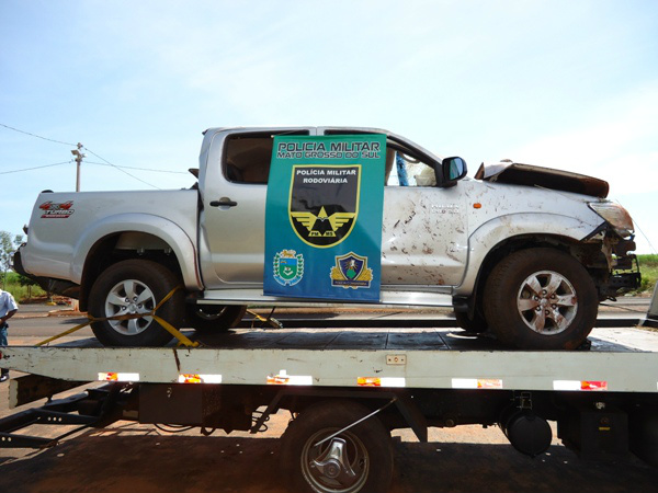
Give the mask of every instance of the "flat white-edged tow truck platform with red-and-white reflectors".
<svg viewBox="0 0 658 493">
<path fill-rule="evenodd" d="M 658 332 L 597 329 L 591 348 L 576 352 L 508 351 L 460 333 L 239 329 L 198 337 L 197 348 L 109 348 L 89 339 L 9 346 L 0 366 L 71 381 L 658 392 Z"/>
</svg>

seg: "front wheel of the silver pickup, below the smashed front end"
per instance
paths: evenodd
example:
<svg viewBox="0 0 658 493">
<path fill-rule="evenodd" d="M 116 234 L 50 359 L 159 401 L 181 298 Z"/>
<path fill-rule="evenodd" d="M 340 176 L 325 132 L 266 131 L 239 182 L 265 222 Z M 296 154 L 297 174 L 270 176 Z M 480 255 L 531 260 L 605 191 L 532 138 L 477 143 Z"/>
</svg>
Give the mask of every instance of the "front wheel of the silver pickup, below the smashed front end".
<svg viewBox="0 0 658 493">
<path fill-rule="evenodd" d="M 503 343 L 521 349 L 575 349 L 597 321 L 599 298 L 587 270 L 559 250 L 521 250 L 485 286 L 485 317 Z"/>
</svg>

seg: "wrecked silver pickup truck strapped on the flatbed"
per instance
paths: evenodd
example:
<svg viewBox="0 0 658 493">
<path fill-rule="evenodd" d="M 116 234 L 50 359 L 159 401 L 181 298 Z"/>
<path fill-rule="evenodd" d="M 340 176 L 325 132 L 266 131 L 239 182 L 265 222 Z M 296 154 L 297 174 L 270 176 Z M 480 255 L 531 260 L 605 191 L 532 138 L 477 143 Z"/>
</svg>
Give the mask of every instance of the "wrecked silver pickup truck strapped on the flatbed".
<svg viewBox="0 0 658 493">
<path fill-rule="evenodd" d="M 263 295 L 265 197 L 276 135 L 386 135 L 383 305 L 453 306 L 458 324 L 520 348 L 572 349 L 599 302 L 639 283 L 633 221 L 608 183 L 501 162 L 466 177 L 374 128 L 213 128 L 196 183 L 155 192 L 43 192 L 14 268 L 95 318 L 158 310 L 174 326 L 235 326 L 248 305 L 326 306 Z M 367 186 L 367 184 L 364 184 Z M 149 316 L 92 324 L 105 345 L 170 340 Z"/>
</svg>

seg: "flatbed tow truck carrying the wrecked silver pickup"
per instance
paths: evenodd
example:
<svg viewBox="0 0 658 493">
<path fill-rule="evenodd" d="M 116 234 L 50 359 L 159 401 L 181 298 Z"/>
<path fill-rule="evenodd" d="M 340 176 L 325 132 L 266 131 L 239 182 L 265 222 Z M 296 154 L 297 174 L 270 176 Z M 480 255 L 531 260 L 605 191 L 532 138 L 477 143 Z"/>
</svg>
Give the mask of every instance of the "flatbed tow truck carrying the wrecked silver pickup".
<svg viewBox="0 0 658 493">
<path fill-rule="evenodd" d="M 396 428 L 423 442 L 431 426 L 499 425 L 515 449 L 538 456 L 554 421 L 581 458 L 632 451 L 658 466 L 658 333 L 646 332 L 642 346 L 594 334 L 582 351 L 527 352 L 415 322 L 237 330 L 200 336 L 202 347 L 4 347 L 0 366 L 30 374 L 11 381 L 10 405 L 47 402 L 0 420 L 0 446 L 57 443 L 20 433 L 34 424 L 120 420 L 257 434 L 290 410 L 280 459 L 295 491 L 385 492 Z M 89 382 L 99 383 L 54 398 Z"/>
</svg>

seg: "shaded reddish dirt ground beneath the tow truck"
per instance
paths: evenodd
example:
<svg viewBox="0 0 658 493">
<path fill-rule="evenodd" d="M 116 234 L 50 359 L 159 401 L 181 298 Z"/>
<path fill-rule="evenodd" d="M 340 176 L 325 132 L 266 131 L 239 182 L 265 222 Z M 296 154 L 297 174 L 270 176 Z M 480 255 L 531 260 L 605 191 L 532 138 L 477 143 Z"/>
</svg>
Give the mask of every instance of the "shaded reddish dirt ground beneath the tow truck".
<svg viewBox="0 0 658 493">
<path fill-rule="evenodd" d="M 45 450 L 0 449 L 0 492 L 285 493 L 277 437 L 288 420 L 279 413 L 258 436 L 216 432 L 209 437 L 198 428 L 168 434 L 117 422 Z M 633 457 L 583 461 L 554 439 L 546 454 L 532 459 L 515 451 L 497 427 L 432 428 L 427 444 L 408 429 L 397 431 L 394 450 L 390 493 L 658 491 L 656 469 Z"/>
</svg>

